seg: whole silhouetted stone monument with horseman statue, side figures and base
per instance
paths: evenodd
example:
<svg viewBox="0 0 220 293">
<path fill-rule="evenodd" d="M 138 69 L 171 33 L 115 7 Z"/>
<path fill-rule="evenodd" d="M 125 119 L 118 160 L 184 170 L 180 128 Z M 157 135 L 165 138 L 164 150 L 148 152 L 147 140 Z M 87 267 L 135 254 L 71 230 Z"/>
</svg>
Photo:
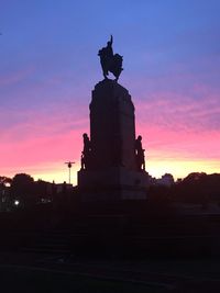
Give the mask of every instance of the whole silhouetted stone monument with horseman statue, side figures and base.
<svg viewBox="0 0 220 293">
<path fill-rule="evenodd" d="M 90 138 L 85 133 L 78 188 L 84 201 L 146 199 L 142 137 L 135 139 L 134 105 L 118 83 L 122 56 L 113 54 L 113 38 L 99 50 L 105 79 L 95 86 L 90 102 Z M 109 79 L 112 72 L 116 80 Z"/>
</svg>

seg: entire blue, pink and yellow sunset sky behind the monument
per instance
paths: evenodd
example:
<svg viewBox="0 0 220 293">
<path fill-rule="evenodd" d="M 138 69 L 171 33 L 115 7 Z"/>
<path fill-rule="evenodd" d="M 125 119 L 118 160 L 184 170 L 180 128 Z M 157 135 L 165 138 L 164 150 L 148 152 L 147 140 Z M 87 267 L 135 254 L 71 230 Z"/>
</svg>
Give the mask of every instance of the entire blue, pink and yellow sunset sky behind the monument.
<svg viewBox="0 0 220 293">
<path fill-rule="evenodd" d="M 110 36 L 146 170 L 220 172 L 219 0 L 0 0 L 0 176 L 73 182 Z"/>
</svg>

